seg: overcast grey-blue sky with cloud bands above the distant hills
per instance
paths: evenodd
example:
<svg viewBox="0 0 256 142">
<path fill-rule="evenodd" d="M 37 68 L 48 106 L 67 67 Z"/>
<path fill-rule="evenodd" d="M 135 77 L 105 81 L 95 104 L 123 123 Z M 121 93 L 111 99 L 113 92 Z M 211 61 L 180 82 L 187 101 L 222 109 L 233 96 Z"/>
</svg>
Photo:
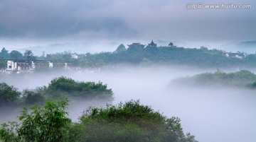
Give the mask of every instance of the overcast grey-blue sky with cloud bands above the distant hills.
<svg viewBox="0 0 256 142">
<path fill-rule="evenodd" d="M 192 3 L 252 8 L 186 8 Z M 255 6 L 255 0 L 0 0 L 0 45 L 256 40 Z"/>
</svg>

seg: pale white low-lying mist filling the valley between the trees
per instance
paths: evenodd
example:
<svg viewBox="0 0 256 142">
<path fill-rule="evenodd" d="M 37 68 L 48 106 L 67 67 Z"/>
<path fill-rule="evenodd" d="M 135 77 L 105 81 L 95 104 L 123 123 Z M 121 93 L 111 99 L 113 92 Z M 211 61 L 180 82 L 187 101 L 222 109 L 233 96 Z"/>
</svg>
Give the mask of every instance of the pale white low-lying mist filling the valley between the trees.
<svg viewBox="0 0 256 142">
<path fill-rule="evenodd" d="M 20 90 L 48 85 L 53 78 L 59 76 L 67 76 L 75 81 L 102 81 L 114 92 L 113 104 L 139 99 L 142 104 L 150 105 L 167 117 L 179 117 L 184 131 L 191 132 L 198 141 L 256 141 L 256 90 L 169 86 L 170 81 L 175 78 L 203 72 L 206 70 L 186 66 L 115 66 L 102 69 L 100 73 L 33 73 L 8 76 L 0 78 L 0 81 Z M 82 111 L 90 105 L 105 106 L 105 103 L 71 102 L 69 117 L 78 121 Z"/>
</svg>

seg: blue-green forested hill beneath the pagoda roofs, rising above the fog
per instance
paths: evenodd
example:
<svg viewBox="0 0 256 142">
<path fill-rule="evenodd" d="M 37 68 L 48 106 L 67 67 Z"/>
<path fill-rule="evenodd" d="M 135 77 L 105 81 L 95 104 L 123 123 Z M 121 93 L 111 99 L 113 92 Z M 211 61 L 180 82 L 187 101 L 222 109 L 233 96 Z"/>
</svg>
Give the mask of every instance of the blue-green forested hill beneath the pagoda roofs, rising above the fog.
<svg viewBox="0 0 256 142">
<path fill-rule="evenodd" d="M 122 48 L 121 48 L 122 47 Z M 256 54 L 246 54 L 245 57 L 227 57 L 226 52 L 206 47 L 184 48 L 168 47 L 128 47 L 119 45 L 114 52 L 87 54 L 84 61 L 94 61 L 97 64 L 178 64 L 199 67 L 244 67 L 256 66 Z M 82 63 L 80 59 L 80 63 Z"/>
</svg>

